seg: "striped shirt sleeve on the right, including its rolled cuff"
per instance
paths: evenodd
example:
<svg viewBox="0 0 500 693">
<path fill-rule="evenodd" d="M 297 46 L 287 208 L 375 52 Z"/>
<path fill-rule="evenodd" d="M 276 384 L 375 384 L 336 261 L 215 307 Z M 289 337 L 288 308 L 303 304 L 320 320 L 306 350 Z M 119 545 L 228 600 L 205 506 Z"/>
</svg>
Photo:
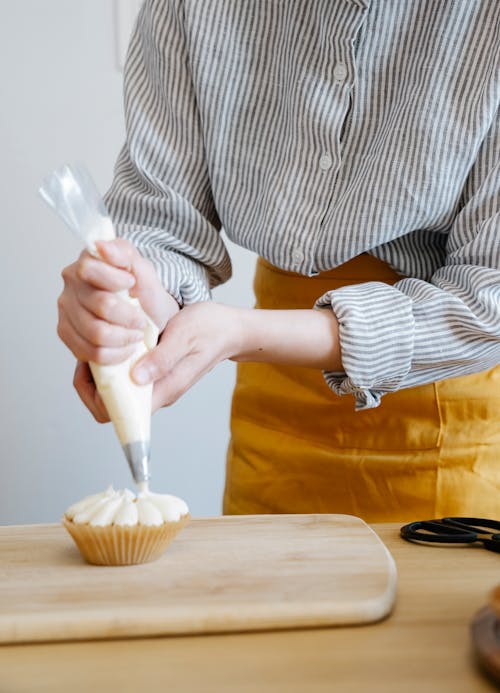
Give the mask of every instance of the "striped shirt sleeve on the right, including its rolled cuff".
<svg viewBox="0 0 500 693">
<path fill-rule="evenodd" d="M 387 392 L 500 363 L 500 127 L 498 113 L 463 189 L 446 259 L 429 281 L 369 282 L 321 296 L 340 329 L 344 372 L 325 372 L 357 409 Z"/>
</svg>

